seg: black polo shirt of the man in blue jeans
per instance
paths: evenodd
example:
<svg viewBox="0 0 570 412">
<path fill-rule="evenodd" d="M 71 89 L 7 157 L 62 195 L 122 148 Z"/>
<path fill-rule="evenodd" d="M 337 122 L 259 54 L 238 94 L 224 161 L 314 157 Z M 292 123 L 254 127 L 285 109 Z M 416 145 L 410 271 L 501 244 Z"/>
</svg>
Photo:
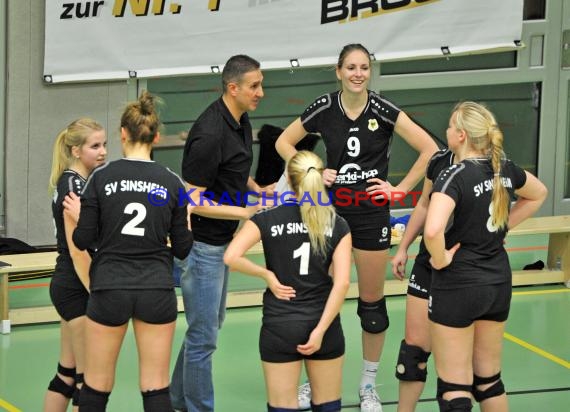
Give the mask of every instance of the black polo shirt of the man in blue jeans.
<svg viewBox="0 0 570 412">
<path fill-rule="evenodd" d="M 215 202 L 245 206 L 252 141 L 247 113 L 237 123 L 220 97 L 198 117 L 188 133 L 182 177 L 194 186 L 206 187 L 207 197 Z M 211 245 L 228 243 L 237 226 L 237 220 L 192 215 L 194 238 Z"/>
</svg>

